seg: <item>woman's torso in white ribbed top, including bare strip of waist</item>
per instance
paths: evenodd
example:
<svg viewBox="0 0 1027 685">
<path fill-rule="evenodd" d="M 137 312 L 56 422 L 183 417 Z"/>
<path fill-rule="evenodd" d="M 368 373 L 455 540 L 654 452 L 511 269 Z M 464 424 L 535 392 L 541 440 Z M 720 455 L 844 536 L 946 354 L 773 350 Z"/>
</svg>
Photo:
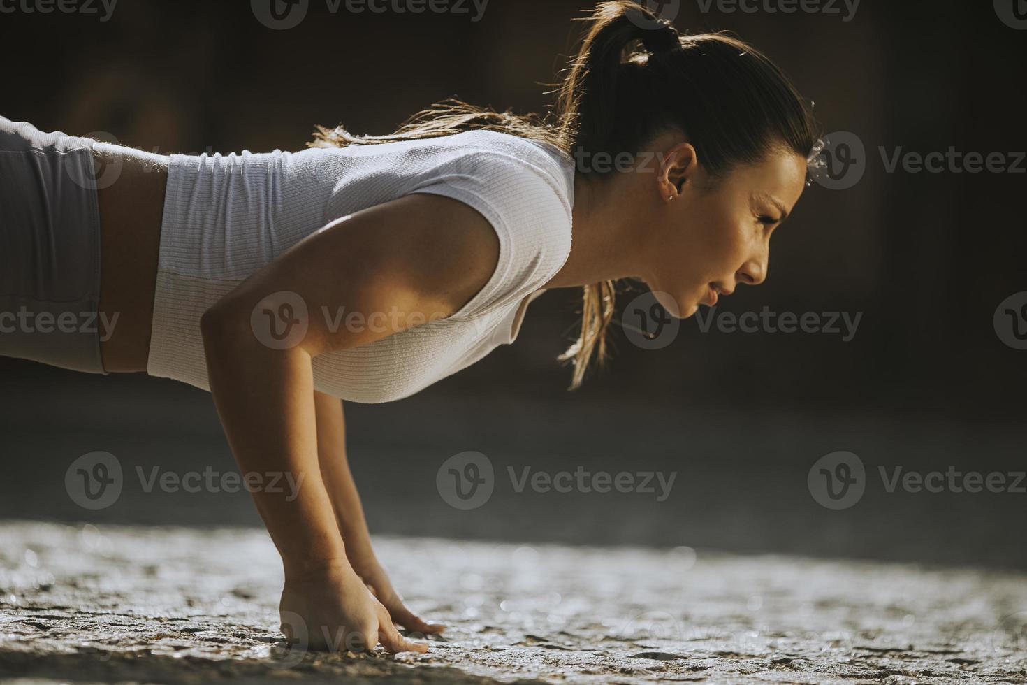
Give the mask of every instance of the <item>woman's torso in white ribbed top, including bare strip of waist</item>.
<svg viewBox="0 0 1027 685">
<path fill-rule="evenodd" d="M 344 398 L 386 402 L 512 342 L 529 296 L 539 293 L 569 253 L 572 166 L 559 153 L 522 139 L 483 131 L 448 138 L 126 160 L 118 182 L 102 190 L 100 200 L 106 255 L 101 307 L 120 314 L 115 335 L 102 343 L 108 371 L 146 370 L 206 387 L 197 326 L 202 311 L 325 224 L 409 192 L 477 203 L 487 216 L 503 215 L 490 217 L 494 224 L 516 223 L 531 239 L 518 235 L 509 241 L 504 255 L 509 282 L 500 292 L 504 283 L 497 268 L 490 281 L 495 292 L 480 294 L 474 316 L 433 321 L 364 348 L 322 355 L 314 360 L 315 385 Z M 478 154 L 483 148 L 484 157 Z M 512 157 L 516 165 L 504 161 Z M 522 181 L 524 168 L 531 169 L 531 185 Z M 503 175 L 510 178 L 499 178 Z M 442 177 L 445 183 L 439 183 Z M 496 189 L 520 184 L 526 196 L 511 202 L 500 196 L 505 191 L 488 184 Z M 543 223 L 553 224 L 551 231 L 540 229 Z M 346 313 L 309 315 L 343 320 Z"/>
</svg>

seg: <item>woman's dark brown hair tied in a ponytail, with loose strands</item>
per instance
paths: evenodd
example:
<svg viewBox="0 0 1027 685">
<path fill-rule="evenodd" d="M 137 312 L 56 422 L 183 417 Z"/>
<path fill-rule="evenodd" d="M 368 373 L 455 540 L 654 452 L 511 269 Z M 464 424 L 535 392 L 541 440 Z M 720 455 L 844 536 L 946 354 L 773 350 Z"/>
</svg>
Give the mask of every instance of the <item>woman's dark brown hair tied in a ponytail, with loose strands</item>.
<svg viewBox="0 0 1027 685">
<path fill-rule="evenodd" d="M 551 143 L 576 159 L 635 154 L 656 136 L 688 136 L 714 181 L 758 163 L 775 150 L 808 157 L 819 138 L 805 102 L 781 70 L 758 50 L 724 33 L 680 35 L 667 21 L 630 0 L 597 5 L 584 18 L 548 116 L 494 112 L 459 101 L 424 110 L 390 136 L 353 136 L 317 127 L 313 146 L 370 145 L 485 128 Z M 602 183 L 608 166 L 577 174 Z M 578 339 L 558 358 L 574 365 L 571 389 L 591 359 L 607 357 L 616 283 L 585 286 Z"/>
</svg>

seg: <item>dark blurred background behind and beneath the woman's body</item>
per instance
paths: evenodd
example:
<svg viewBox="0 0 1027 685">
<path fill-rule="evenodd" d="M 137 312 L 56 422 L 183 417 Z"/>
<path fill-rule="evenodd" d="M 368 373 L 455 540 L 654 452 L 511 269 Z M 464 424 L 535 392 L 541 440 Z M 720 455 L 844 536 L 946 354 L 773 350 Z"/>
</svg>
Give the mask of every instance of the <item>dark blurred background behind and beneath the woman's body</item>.
<svg viewBox="0 0 1027 685">
<path fill-rule="evenodd" d="M 310 0 L 299 26 L 271 30 L 248 2 L 123 0 L 108 21 L 92 4 L 94 14 L 30 13 L 0 0 L 0 114 L 160 153 L 297 150 L 316 123 L 384 134 L 450 97 L 543 111 L 591 6 L 491 0 L 472 21 L 470 2 L 415 15 Z M 842 3 L 791 14 L 705 4 L 680 3 L 676 26 L 736 32 L 815 102 L 826 131 L 866 147 L 862 180 L 808 188 L 775 233 L 766 282 L 718 310 L 859 312 L 857 334 L 703 333 L 693 317 L 645 350 L 616 329 L 609 368 L 567 392 L 570 370 L 555 357 L 576 330 L 578 293 L 547 293 L 515 345 L 409 399 L 346 403 L 373 530 L 1027 568 L 1025 483 L 888 493 L 878 475 L 1027 469 L 1027 351 L 993 325 L 999 303 L 1027 291 L 1027 175 L 887 173 L 878 151 L 952 146 L 1012 163 L 1027 150 L 1027 32 L 999 18 L 1001 2 L 865 0 L 849 21 Z M 109 508 L 79 508 L 65 470 L 96 450 L 126 472 L 234 468 L 204 392 L 0 359 L 0 519 L 260 525 L 245 493 L 137 484 Z M 488 455 L 499 479 L 487 504 L 461 511 L 435 474 L 466 450 Z M 806 478 L 838 450 L 862 458 L 867 492 L 830 510 Z M 518 494 L 508 465 L 678 475 L 661 502 Z"/>
</svg>

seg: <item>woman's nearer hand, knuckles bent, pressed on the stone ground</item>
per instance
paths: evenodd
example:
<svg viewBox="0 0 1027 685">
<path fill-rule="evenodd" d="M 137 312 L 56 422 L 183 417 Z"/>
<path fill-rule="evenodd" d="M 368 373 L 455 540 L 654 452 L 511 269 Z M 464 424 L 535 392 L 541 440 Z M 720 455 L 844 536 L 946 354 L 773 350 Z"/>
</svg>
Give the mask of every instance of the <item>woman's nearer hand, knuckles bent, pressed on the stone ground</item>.
<svg viewBox="0 0 1027 685">
<path fill-rule="evenodd" d="M 312 650 L 373 651 L 380 642 L 392 653 L 428 651 L 400 635 L 388 610 L 348 564 L 287 577 L 278 609 L 286 640 Z"/>
</svg>

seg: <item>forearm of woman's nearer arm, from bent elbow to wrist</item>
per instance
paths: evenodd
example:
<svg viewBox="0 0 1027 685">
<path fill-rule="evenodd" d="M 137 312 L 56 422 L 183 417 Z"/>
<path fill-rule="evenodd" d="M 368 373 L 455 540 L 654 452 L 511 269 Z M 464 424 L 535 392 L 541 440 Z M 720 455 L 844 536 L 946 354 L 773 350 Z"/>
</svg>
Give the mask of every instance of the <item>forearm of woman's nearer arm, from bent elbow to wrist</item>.
<svg viewBox="0 0 1027 685">
<path fill-rule="evenodd" d="M 296 493 L 253 492 L 287 578 L 348 566 L 317 458 L 310 355 L 262 345 L 231 312 L 207 312 L 201 329 L 211 391 L 239 468 L 261 474 L 258 482 L 291 473 L 298 484 Z"/>
</svg>

